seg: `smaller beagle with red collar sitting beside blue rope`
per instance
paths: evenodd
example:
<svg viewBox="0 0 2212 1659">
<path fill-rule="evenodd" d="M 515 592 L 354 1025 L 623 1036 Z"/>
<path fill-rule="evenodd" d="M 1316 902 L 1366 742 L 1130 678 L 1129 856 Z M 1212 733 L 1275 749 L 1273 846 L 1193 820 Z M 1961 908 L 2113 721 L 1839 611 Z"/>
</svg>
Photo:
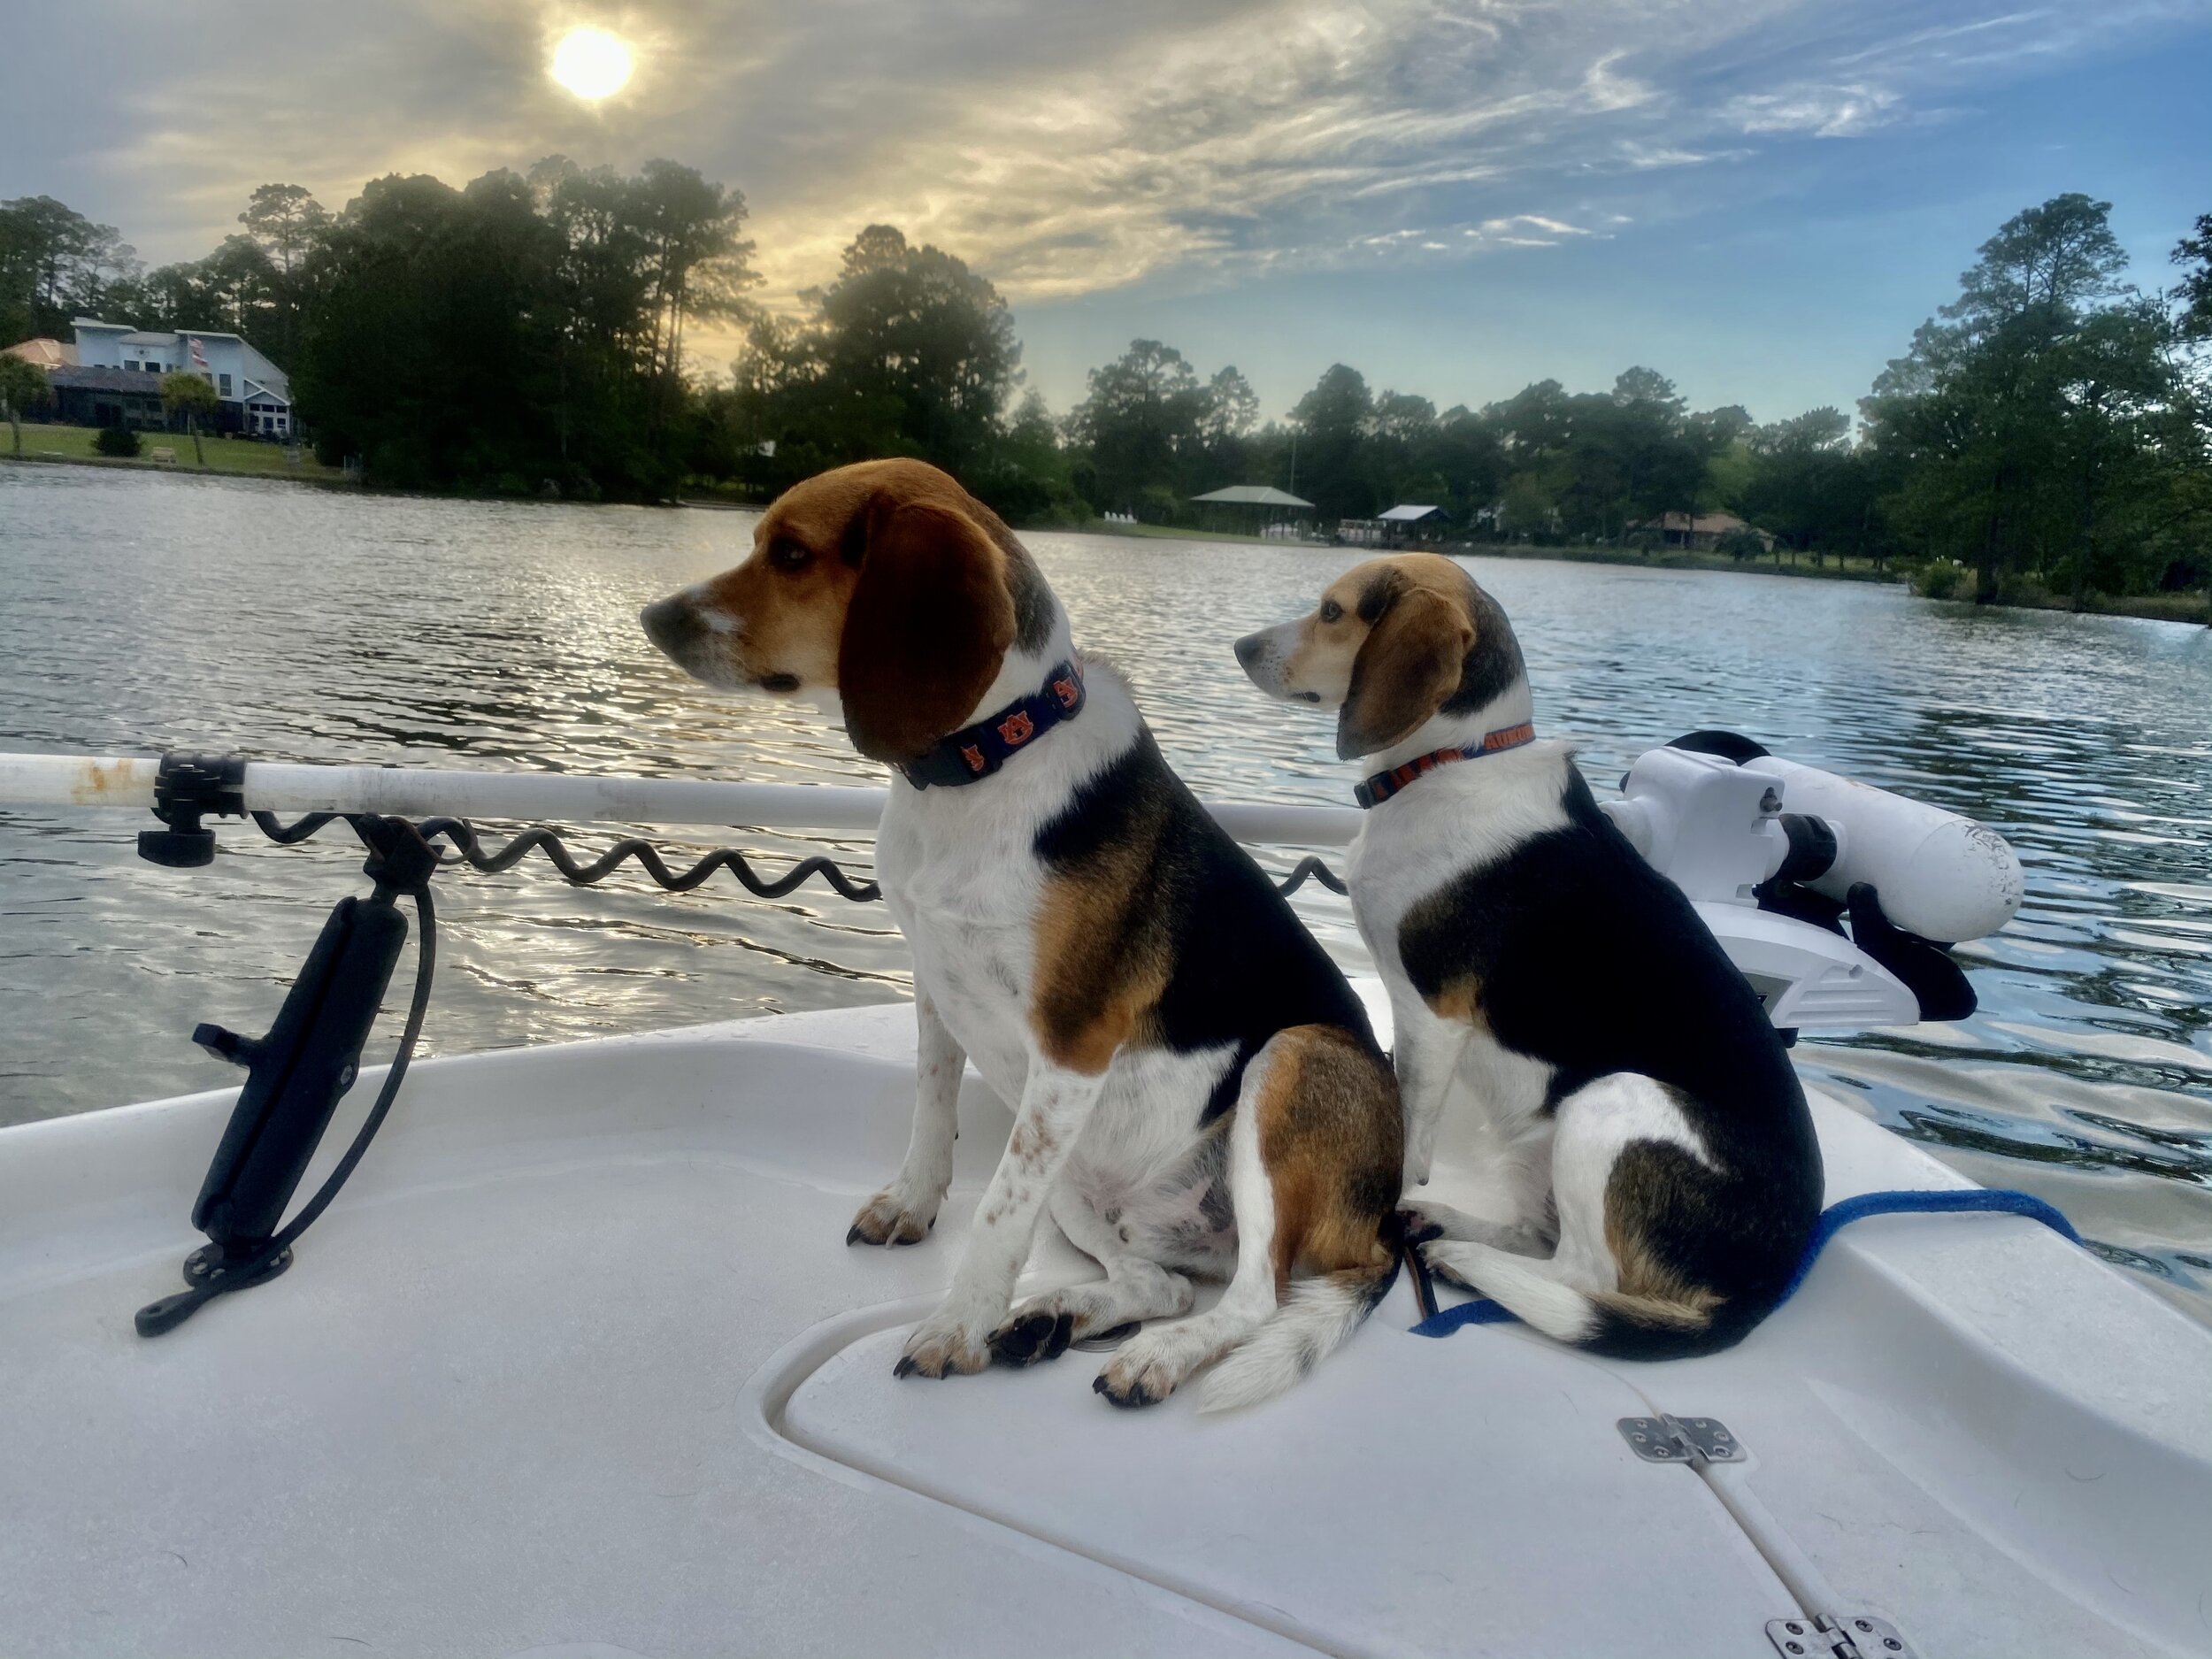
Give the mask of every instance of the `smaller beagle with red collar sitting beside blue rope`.
<svg viewBox="0 0 2212 1659">
<path fill-rule="evenodd" d="M 1805 1093 L 1690 900 L 1535 741 L 1504 611 L 1451 560 L 1380 557 L 1237 659 L 1334 708 L 1374 774 L 1347 883 L 1396 1022 L 1405 1186 L 1442 1155 L 1491 1188 L 1486 1214 L 1405 1212 L 1425 1259 L 1597 1354 L 1736 1343 L 1820 1210 Z"/>
</svg>

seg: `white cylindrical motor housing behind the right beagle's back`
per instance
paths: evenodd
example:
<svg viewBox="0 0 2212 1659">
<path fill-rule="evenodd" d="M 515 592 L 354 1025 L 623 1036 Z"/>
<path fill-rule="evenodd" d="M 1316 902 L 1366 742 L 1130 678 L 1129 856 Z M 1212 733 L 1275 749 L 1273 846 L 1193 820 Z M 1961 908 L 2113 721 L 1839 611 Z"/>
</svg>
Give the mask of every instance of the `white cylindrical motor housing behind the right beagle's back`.
<svg viewBox="0 0 2212 1659">
<path fill-rule="evenodd" d="M 1741 770 L 1772 781 L 1785 812 L 1834 832 L 1834 863 L 1805 880 L 1816 894 L 1840 902 L 1874 883 L 1891 922 L 1942 945 L 1995 933 L 2020 909 L 2020 858 L 1989 825 L 1776 754 Z"/>
</svg>

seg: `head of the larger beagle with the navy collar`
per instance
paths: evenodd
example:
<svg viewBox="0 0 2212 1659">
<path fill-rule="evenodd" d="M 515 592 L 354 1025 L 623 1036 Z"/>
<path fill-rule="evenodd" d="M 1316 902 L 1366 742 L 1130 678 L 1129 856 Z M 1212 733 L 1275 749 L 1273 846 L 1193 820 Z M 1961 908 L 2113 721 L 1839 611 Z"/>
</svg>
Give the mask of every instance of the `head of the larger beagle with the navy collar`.
<svg viewBox="0 0 2212 1659">
<path fill-rule="evenodd" d="M 1020 568 L 1013 568 L 1015 562 Z M 783 491 L 752 557 L 639 613 L 708 686 L 836 701 L 863 754 L 911 761 L 969 719 L 1042 584 L 989 507 L 918 460 Z"/>
</svg>

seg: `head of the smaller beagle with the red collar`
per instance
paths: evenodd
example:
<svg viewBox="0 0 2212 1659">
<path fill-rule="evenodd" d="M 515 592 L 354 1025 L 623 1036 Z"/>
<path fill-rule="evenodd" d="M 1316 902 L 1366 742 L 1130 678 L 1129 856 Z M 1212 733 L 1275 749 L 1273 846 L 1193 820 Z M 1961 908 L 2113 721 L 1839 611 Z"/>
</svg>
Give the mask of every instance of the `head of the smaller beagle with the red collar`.
<svg viewBox="0 0 2212 1659">
<path fill-rule="evenodd" d="M 1433 714 L 1473 714 L 1524 684 L 1506 613 L 1436 553 L 1396 553 L 1345 571 L 1321 604 L 1237 641 L 1270 697 L 1336 710 L 1336 752 L 1376 754 Z"/>
</svg>

